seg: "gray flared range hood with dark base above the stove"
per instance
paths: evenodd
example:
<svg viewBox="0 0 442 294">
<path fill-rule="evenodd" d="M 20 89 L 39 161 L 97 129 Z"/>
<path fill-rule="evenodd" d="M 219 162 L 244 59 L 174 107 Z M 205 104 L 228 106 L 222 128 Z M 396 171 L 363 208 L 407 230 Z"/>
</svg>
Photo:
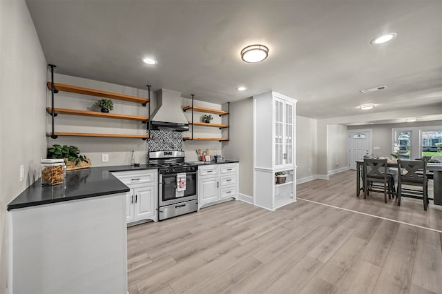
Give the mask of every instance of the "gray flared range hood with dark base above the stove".
<svg viewBox="0 0 442 294">
<path fill-rule="evenodd" d="M 181 93 L 167 89 L 157 91 L 157 109 L 152 115 L 151 130 L 189 130 L 189 122 L 181 109 Z"/>
</svg>

